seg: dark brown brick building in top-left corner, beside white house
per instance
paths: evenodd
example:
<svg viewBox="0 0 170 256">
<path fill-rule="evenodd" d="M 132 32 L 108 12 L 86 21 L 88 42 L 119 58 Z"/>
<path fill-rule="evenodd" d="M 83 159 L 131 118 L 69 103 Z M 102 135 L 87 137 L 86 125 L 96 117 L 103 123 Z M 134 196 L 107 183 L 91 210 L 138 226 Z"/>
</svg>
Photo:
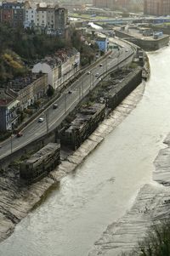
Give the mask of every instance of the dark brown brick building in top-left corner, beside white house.
<svg viewBox="0 0 170 256">
<path fill-rule="evenodd" d="M 0 8 L 0 21 L 11 26 L 23 26 L 25 14 L 24 3 L 3 2 Z"/>
</svg>

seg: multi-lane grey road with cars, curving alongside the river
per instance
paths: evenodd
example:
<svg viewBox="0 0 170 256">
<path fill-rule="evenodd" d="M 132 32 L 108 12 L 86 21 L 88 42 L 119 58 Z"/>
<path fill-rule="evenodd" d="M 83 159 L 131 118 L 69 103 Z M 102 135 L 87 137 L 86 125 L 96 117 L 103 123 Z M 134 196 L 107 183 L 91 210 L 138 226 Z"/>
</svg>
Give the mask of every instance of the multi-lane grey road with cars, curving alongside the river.
<svg viewBox="0 0 170 256">
<path fill-rule="evenodd" d="M 23 129 L 22 137 L 17 138 L 13 136 L 1 144 L 0 159 L 56 128 L 68 113 L 75 108 L 78 102 L 97 85 L 105 72 L 111 69 L 114 70 L 117 66 L 126 65 L 133 57 L 128 60 L 125 59 L 132 54 L 133 48 L 127 43 L 122 43 L 122 47 L 116 53 L 112 52 L 105 60 L 101 60 L 90 70 L 90 74 L 88 74 L 88 71 L 83 74 L 82 77 L 72 83 L 71 87 L 67 88 L 59 99 L 54 102 L 54 104 L 58 105 L 57 109 L 53 109 L 53 104 L 42 112 L 40 117 L 44 118 L 44 122 L 38 122 L 39 117 L 37 117 L 36 120 Z M 122 60 L 125 61 L 121 64 Z M 99 74 L 98 77 L 96 75 L 97 73 Z"/>
</svg>

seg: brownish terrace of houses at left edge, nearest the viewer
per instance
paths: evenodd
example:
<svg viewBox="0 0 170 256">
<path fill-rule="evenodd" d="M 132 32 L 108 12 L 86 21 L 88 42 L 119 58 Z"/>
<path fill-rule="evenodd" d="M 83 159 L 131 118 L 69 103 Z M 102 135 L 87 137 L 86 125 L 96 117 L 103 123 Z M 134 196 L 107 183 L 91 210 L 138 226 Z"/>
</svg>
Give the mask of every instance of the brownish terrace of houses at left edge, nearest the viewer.
<svg viewBox="0 0 170 256">
<path fill-rule="evenodd" d="M 47 74 L 18 77 L 0 90 L 0 131 L 12 130 L 20 124 L 20 111 L 41 99 L 48 90 Z"/>
</svg>

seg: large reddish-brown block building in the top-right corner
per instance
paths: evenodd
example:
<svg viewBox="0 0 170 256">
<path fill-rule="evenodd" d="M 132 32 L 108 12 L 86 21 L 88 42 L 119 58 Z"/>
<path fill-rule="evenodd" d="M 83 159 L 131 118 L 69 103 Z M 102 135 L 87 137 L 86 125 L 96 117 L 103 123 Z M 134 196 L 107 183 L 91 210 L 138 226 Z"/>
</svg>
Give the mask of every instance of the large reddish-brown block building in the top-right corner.
<svg viewBox="0 0 170 256">
<path fill-rule="evenodd" d="M 170 0 L 144 0 L 144 14 L 148 15 L 169 15 Z"/>
</svg>

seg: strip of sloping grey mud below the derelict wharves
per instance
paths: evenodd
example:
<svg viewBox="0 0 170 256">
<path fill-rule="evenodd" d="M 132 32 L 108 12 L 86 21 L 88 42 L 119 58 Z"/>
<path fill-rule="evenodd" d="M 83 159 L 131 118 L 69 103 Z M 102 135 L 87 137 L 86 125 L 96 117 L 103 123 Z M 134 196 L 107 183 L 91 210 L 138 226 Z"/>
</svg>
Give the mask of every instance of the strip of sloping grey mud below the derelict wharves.
<svg viewBox="0 0 170 256">
<path fill-rule="evenodd" d="M 3 173 L 0 177 L 0 241 L 7 238 L 13 231 L 20 219 L 39 202 L 45 192 L 52 185 L 59 182 L 66 174 L 72 172 L 101 143 L 107 134 L 127 117 L 130 111 L 135 108 L 144 92 L 144 82 L 134 89 L 127 96 L 122 104 L 116 107 L 97 128 L 93 134 L 65 160 L 61 161 L 58 168 L 54 169 L 48 177 L 33 185 L 23 185 L 20 183 L 19 173 L 11 170 Z"/>
</svg>

